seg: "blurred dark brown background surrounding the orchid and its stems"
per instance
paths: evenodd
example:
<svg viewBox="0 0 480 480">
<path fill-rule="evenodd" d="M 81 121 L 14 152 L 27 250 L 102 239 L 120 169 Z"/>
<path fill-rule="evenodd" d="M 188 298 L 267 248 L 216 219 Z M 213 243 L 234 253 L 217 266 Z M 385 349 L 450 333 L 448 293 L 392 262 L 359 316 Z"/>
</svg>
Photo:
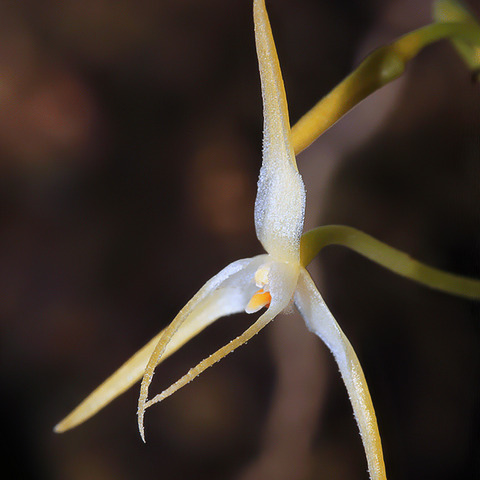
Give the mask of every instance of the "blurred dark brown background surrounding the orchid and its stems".
<svg viewBox="0 0 480 480">
<path fill-rule="evenodd" d="M 476 14 L 479 4 L 469 2 Z M 292 122 L 431 1 L 268 2 Z M 8 478 L 367 479 L 337 368 L 294 314 L 152 408 L 52 427 L 230 261 L 260 252 L 248 0 L 0 2 L 0 372 Z M 480 88 L 447 42 L 299 156 L 307 226 L 480 277 Z M 479 306 L 340 247 L 313 265 L 356 348 L 391 478 L 478 479 Z M 219 321 L 159 391 L 252 321 Z M 6 477 L 7 478 L 7 477 Z"/>
</svg>

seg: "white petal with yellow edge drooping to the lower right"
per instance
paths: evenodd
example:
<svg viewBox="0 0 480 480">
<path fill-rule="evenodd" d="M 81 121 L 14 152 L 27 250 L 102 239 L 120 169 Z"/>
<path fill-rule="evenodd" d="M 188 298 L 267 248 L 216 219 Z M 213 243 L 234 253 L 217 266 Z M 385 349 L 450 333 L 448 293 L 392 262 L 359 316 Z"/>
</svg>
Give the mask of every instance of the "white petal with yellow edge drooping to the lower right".
<svg viewBox="0 0 480 480">
<path fill-rule="evenodd" d="M 370 478 L 386 479 L 377 419 L 362 367 L 350 342 L 325 305 L 312 278 L 303 268 L 295 292 L 295 304 L 305 319 L 308 329 L 325 342 L 337 361 L 360 429 Z"/>
</svg>

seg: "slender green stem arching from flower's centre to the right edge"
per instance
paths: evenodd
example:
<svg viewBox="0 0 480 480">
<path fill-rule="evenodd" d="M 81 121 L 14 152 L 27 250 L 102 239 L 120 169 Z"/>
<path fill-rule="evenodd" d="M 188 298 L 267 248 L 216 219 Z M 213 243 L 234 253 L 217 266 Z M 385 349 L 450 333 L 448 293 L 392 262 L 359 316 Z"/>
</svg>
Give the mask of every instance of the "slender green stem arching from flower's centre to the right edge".
<svg viewBox="0 0 480 480">
<path fill-rule="evenodd" d="M 480 299 L 479 280 L 429 267 L 366 233 L 343 225 L 326 225 L 304 233 L 300 247 L 302 265 L 308 265 L 327 245 L 348 247 L 398 275 L 435 290 Z"/>
</svg>

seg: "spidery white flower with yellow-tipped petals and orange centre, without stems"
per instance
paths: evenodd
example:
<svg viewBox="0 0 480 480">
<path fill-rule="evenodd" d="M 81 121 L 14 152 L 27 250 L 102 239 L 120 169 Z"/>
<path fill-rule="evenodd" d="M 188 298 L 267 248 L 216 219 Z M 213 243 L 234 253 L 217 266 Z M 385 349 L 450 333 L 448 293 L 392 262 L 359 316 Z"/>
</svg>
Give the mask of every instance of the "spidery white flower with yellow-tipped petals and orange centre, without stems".
<svg viewBox="0 0 480 480">
<path fill-rule="evenodd" d="M 380 436 L 362 369 L 300 260 L 305 187 L 290 141 L 285 89 L 263 0 L 254 1 L 254 22 L 264 106 L 263 162 L 255 201 L 255 229 L 267 253 L 237 260 L 211 278 L 167 328 L 55 429 L 61 432 L 83 422 L 143 375 L 138 425 L 145 440 L 143 420 L 148 407 L 165 399 L 247 342 L 294 302 L 307 327 L 332 350 L 352 401 L 372 478 L 384 478 Z M 264 307 L 265 312 L 242 335 L 200 362 L 165 391 L 148 399 L 155 367 L 162 360 L 218 318 L 241 311 L 254 313 Z"/>
</svg>

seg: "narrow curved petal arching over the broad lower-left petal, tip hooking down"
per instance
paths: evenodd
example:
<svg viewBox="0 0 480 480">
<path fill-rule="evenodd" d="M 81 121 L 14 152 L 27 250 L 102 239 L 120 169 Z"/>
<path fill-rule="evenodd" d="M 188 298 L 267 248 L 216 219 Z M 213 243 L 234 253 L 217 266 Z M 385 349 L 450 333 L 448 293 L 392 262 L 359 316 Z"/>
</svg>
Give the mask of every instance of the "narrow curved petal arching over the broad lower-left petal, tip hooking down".
<svg viewBox="0 0 480 480">
<path fill-rule="evenodd" d="M 170 345 L 172 343 L 176 345 L 182 339 L 183 332 L 195 332 L 199 327 L 201 327 L 200 330 L 203 329 L 206 320 L 208 323 L 213 321 L 212 315 L 215 316 L 215 319 L 219 318 L 220 315 L 216 314 L 216 308 L 219 309 L 220 314 L 224 315 L 243 311 L 257 289 L 254 282 L 255 271 L 265 262 L 266 258 L 268 258 L 267 255 L 259 255 L 237 260 L 225 267 L 196 293 L 170 325 L 163 330 L 142 372 L 137 416 L 143 441 L 145 441 L 143 416 L 155 367 L 166 358 L 165 355 L 171 348 Z M 204 314 L 205 309 L 208 315 Z"/>
</svg>

